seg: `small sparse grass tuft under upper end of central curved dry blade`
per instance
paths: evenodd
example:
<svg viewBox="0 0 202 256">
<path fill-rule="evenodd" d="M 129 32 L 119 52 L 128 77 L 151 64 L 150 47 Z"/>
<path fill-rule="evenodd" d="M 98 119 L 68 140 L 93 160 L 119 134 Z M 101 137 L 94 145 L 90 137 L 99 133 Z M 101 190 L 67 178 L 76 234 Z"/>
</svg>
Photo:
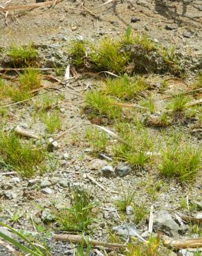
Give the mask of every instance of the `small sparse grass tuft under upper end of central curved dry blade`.
<svg viewBox="0 0 202 256">
<path fill-rule="evenodd" d="M 107 146 L 107 134 L 104 131 L 99 131 L 98 128 L 86 130 L 86 138 L 89 140 L 91 149 L 94 152 L 104 152 Z"/>
</svg>

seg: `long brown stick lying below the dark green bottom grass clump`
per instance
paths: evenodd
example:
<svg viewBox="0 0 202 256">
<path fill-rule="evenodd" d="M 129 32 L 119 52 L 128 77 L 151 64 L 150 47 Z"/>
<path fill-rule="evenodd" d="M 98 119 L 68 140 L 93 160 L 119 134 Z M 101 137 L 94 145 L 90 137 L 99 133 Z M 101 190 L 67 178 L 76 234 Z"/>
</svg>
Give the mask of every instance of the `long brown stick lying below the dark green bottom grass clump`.
<svg viewBox="0 0 202 256">
<path fill-rule="evenodd" d="M 86 245 L 91 244 L 92 246 L 103 246 L 103 247 L 111 248 L 111 249 L 125 248 L 124 244 L 105 243 L 104 241 L 97 241 L 97 240 L 91 239 L 91 238 L 85 239 L 85 237 L 83 237 L 82 235 L 68 235 L 68 234 L 57 235 L 57 234 L 54 234 L 53 239 L 59 240 L 59 241 L 69 241 L 69 242 L 75 243 L 75 244 L 84 243 Z"/>
</svg>

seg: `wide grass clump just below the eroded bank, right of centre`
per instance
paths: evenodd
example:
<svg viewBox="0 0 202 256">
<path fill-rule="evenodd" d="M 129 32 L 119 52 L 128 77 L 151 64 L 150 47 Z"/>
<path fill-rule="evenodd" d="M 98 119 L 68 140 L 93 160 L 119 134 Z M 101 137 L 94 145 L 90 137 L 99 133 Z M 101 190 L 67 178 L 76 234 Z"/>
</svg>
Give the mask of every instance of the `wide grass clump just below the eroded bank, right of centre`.
<svg viewBox="0 0 202 256">
<path fill-rule="evenodd" d="M 123 75 L 121 78 L 107 78 L 104 82 L 103 93 L 120 99 L 130 99 L 145 89 L 147 89 L 147 84 L 142 77 Z"/>
</svg>

